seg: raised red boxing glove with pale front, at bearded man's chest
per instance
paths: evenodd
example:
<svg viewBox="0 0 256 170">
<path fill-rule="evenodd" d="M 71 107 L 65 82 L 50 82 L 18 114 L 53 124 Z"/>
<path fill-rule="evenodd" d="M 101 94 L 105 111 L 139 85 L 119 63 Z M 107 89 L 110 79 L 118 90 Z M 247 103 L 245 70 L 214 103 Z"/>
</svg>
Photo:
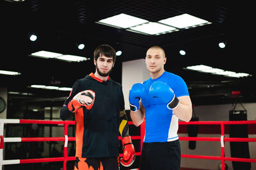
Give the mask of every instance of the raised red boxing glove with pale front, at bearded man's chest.
<svg viewBox="0 0 256 170">
<path fill-rule="evenodd" d="M 95 100 L 95 92 L 88 89 L 77 93 L 77 95 L 68 103 L 68 110 L 76 112 L 82 106 L 86 109 L 92 109 Z"/>
</svg>

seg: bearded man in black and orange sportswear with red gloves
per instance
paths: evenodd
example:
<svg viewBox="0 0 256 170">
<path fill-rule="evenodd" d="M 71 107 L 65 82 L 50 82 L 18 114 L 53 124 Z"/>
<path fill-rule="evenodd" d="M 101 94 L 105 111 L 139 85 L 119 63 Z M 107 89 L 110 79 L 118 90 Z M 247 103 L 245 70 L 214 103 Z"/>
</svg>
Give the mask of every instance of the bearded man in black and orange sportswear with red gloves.
<svg viewBox="0 0 256 170">
<path fill-rule="evenodd" d="M 76 118 L 74 169 L 119 169 L 118 130 L 124 147 L 120 162 L 131 166 L 135 151 L 129 136 L 122 86 L 110 79 L 116 52 L 100 45 L 93 52 L 95 73 L 77 80 L 60 111 L 61 120 Z"/>
</svg>

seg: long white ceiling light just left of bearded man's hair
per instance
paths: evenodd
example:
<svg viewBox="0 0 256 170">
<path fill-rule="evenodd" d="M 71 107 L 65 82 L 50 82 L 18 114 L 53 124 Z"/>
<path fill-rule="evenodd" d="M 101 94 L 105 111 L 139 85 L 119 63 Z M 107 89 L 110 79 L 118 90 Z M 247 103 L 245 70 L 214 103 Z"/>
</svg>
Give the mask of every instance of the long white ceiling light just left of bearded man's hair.
<svg viewBox="0 0 256 170">
<path fill-rule="evenodd" d="M 54 58 L 54 59 L 61 59 L 61 60 L 65 60 L 65 61 L 76 61 L 76 62 L 80 62 L 80 61 L 85 61 L 89 58 L 84 58 L 81 56 L 74 56 L 74 55 L 68 55 L 68 54 L 60 54 L 60 53 L 56 53 L 56 52 L 49 52 L 46 50 L 41 50 L 38 52 L 34 52 L 31 54 L 31 56 L 33 57 L 39 57 L 39 58 Z"/>
</svg>

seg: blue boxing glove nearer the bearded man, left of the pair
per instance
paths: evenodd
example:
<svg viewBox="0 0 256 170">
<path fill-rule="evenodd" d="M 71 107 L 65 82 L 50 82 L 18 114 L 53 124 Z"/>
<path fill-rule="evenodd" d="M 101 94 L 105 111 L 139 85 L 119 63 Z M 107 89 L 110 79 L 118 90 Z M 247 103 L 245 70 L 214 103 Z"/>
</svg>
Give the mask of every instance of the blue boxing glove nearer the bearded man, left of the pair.
<svg viewBox="0 0 256 170">
<path fill-rule="evenodd" d="M 132 88 L 129 91 L 129 103 L 130 109 L 133 112 L 140 109 L 140 99 L 145 97 L 145 86 L 142 83 L 133 84 Z"/>
</svg>

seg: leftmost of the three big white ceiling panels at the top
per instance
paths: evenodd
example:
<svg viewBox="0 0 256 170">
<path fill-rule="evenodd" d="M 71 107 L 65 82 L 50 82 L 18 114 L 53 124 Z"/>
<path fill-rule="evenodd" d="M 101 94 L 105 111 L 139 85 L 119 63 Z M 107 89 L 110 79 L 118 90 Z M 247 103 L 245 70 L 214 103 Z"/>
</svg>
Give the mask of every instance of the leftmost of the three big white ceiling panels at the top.
<svg viewBox="0 0 256 170">
<path fill-rule="evenodd" d="M 112 27 L 127 28 L 127 27 L 137 26 L 139 24 L 143 24 L 146 22 L 148 22 L 148 20 L 140 19 L 138 17 L 133 17 L 131 15 L 121 13 L 113 17 L 99 20 L 97 23 L 112 26 Z"/>
</svg>

